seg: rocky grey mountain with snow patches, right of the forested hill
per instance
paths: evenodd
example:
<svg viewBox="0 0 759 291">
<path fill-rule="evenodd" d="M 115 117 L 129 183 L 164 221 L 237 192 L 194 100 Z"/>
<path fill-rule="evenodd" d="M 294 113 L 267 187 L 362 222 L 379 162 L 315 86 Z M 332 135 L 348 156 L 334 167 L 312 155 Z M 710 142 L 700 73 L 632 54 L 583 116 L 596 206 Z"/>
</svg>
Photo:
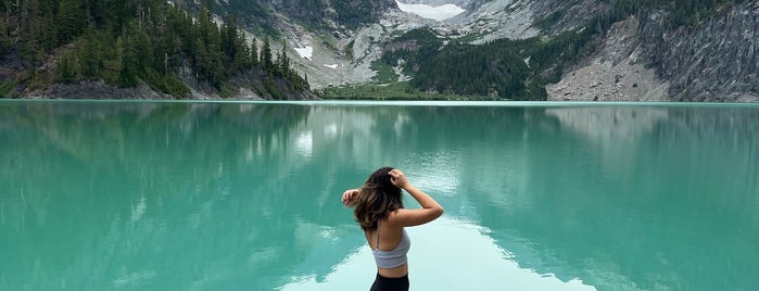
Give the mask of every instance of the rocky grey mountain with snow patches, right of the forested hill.
<svg viewBox="0 0 759 291">
<path fill-rule="evenodd" d="M 467 58 L 480 58 L 497 65 L 485 65 L 485 71 L 491 69 L 492 74 L 481 74 L 475 79 L 430 77 L 447 84 L 494 78 L 493 88 L 485 85 L 477 93 L 496 98 L 759 101 L 756 1 L 417 0 L 397 4 L 400 9 L 389 8 L 379 21 L 367 21 L 358 27 L 327 34 L 298 26 L 286 30 L 290 31 L 286 33 L 290 34 L 287 38 L 290 46 L 308 49 L 296 66 L 314 76 L 309 80 L 317 90 L 337 86 L 355 91 L 362 86 L 387 86 L 412 79 L 412 88 L 404 91 L 441 92 L 442 89 L 466 96 L 468 91 L 458 88 L 437 88 L 423 83 L 417 86 L 427 87 L 413 86 L 419 69 L 422 75 L 430 75 L 426 67 L 434 67 L 431 63 L 437 68 L 443 67 L 448 62 L 446 55 L 456 55 L 455 50 L 459 50 L 463 56 L 454 58 L 458 64 Z M 464 12 L 447 18 L 429 16 L 446 4 Z M 417 10 L 408 9 L 409 5 Z M 418 8 L 426 8 L 428 14 L 422 15 Z M 413 64 L 415 67 L 406 67 L 404 63 L 409 62 L 404 58 L 392 60 L 396 63 L 381 62 L 393 48 L 403 47 L 395 39 L 403 39 L 405 33 L 419 27 L 429 27 L 443 40 L 441 43 L 445 45 L 433 48 L 440 54 L 421 58 L 421 63 Z M 405 41 L 408 45 L 409 40 Z M 485 48 L 480 46 L 488 46 L 502 56 L 509 47 L 520 51 L 505 60 L 480 55 L 480 49 Z M 418 49 L 410 48 L 412 54 Z M 523 59 L 528 68 L 519 68 L 518 64 L 505 66 L 516 58 Z M 497 83 L 510 77 L 497 75 L 506 68 L 529 71 L 518 74 L 523 77 L 521 81 L 533 89 L 543 88 L 542 96 L 524 98 L 495 88 L 501 86 Z M 470 73 L 460 69 L 456 74 Z M 518 90 L 524 92 L 524 89 Z M 539 92 L 533 90 L 533 93 Z"/>
</svg>

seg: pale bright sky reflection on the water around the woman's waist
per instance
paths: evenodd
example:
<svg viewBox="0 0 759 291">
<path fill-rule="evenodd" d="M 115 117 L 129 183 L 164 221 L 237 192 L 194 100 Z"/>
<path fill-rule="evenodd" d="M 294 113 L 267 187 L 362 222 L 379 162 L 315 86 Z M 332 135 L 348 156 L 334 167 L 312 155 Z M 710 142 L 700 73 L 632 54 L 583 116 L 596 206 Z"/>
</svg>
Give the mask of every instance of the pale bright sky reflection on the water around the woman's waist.
<svg viewBox="0 0 759 291">
<path fill-rule="evenodd" d="M 489 230 L 468 222 L 443 217 L 410 228 L 415 246 L 408 255 L 414 290 L 595 290 L 580 279 L 561 281 L 553 274 L 519 267 L 513 254 L 488 236 Z M 418 246 L 417 246 L 418 245 Z M 317 246 L 318 248 L 318 246 Z M 473 252 L 472 250 L 477 250 Z M 295 276 L 278 290 L 364 290 L 376 269 L 371 251 L 362 245 L 326 276 Z"/>
</svg>

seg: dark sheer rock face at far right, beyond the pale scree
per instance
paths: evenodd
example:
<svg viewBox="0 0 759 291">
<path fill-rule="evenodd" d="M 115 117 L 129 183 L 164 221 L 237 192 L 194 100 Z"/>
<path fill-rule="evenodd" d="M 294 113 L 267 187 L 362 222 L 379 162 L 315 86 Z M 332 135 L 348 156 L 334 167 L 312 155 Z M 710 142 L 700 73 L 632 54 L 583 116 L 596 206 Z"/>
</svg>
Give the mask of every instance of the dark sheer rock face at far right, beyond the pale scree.
<svg viewBox="0 0 759 291">
<path fill-rule="evenodd" d="M 642 20 L 645 52 L 674 101 L 759 101 L 759 2 L 728 7 L 694 27 L 667 30 L 665 15 Z"/>
</svg>

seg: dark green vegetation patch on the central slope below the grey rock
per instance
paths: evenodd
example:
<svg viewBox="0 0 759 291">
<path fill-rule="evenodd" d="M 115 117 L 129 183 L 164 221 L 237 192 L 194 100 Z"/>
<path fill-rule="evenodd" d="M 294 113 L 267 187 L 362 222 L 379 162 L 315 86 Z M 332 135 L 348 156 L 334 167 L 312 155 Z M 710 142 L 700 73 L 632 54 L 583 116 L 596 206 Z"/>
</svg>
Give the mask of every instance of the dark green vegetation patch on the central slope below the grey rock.
<svg viewBox="0 0 759 291">
<path fill-rule="evenodd" d="M 511 100 L 545 100 L 543 86 L 557 81 L 561 66 L 583 55 L 592 34 L 583 29 L 551 39 L 499 39 L 484 45 L 451 41 L 443 46 L 419 28 L 388 46 L 382 61 L 402 64 L 409 86 L 426 92 Z"/>
</svg>

